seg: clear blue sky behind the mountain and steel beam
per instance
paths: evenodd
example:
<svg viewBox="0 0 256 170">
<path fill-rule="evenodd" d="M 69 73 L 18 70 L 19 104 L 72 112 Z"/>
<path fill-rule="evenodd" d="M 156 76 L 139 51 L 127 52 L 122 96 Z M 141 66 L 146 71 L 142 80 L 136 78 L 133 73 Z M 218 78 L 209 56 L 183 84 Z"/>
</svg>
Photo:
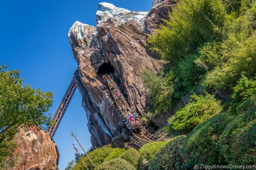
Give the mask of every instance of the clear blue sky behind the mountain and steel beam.
<svg viewBox="0 0 256 170">
<path fill-rule="evenodd" d="M 53 115 L 77 68 L 67 39 L 68 30 L 76 20 L 95 25 L 100 2 L 131 11 L 148 11 L 152 4 L 152 0 L 1 1 L 0 64 L 19 69 L 25 84 L 52 91 L 54 102 L 50 113 Z M 70 129 L 85 149 L 91 146 L 81 99 L 77 90 L 53 137 L 60 152 L 61 170 L 74 159 Z"/>
</svg>

